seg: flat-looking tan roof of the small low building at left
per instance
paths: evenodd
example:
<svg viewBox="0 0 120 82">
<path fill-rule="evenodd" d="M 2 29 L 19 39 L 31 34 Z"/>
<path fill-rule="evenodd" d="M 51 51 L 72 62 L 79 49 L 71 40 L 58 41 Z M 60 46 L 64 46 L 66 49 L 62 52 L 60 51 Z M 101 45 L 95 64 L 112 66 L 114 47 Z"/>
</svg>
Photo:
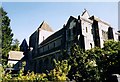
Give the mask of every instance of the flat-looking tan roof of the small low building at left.
<svg viewBox="0 0 120 82">
<path fill-rule="evenodd" d="M 23 52 L 10 51 L 8 60 L 21 60 L 24 57 Z"/>
</svg>

